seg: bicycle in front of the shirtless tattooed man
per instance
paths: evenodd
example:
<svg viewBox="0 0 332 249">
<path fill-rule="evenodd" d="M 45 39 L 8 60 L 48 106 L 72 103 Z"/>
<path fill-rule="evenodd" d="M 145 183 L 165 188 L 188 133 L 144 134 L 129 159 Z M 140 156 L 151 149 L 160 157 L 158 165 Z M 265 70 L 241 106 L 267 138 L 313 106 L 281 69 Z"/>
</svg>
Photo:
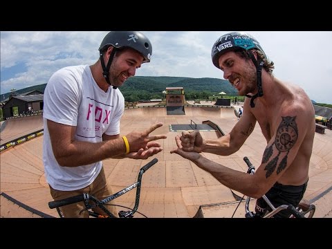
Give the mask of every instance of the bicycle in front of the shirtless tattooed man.
<svg viewBox="0 0 332 249">
<path fill-rule="evenodd" d="M 248 159 L 248 157 L 245 156 L 243 158 L 243 160 L 248 165 L 247 173 L 255 174 L 255 167 L 252 165 L 252 163 L 250 163 L 250 160 Z M 243 197 L 244 197 L 244 195 L 243 195 Z M 243 197 L 241 198 L 241 200 L 239 200 L 239 204 L 241 203 L 241 201 L 244 200 Z M 266 197 L 265 194 L 262 196 L 262 198 L 264 199 L 264 201 L 266 201 L 266 203 L 268 203 L 268 205 L 270 206 L 272 211 L 268 212 L 267 214 L 265 214 L 262 217 L 259 216 L 259 214 L 255 214 L 254 212 L 249 210 L 250 196 L 247 196 L 246 205 L 245 205 L 245 210 L 246 210 L 245 217 L 246 218 L 257 218 L 257 217 L 271 218 L 271 217 L 273 217 L 273 215 L 277 214 L 278 212 L 280 212 L 282 210 L 288 210 L 289 212 L 291 212 L 290 218 L 312 218 L 313 214 L 315 214 L 315 209 L 316 209 L 315 205 L 313 205 L 312 203 L 309 203 L 306 199 L 302 199 L 302 201 L 300 201 L 299 205 L 297 205 L 296 208 L 291 204 L 279 205 L 277 208 L 275 208 L 275 206 L 270 202 L 270 200 L 268 200 L 268 198 Z M 239 205 L 237 205 L 237 208 L 239 208 Z M 237 208 L 235 209 L 233 216 L 234 216 L 235 212 L 237 211 Z"/>
</svg>

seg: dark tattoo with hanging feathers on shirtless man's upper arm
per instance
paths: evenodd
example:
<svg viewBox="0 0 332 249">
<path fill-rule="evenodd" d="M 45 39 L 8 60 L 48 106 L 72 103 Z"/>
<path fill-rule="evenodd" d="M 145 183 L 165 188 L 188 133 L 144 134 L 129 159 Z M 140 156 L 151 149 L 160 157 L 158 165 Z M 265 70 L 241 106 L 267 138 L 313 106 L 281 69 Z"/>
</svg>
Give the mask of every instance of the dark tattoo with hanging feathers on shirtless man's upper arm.
<svg viewBox="0 0 332 249">
<path fill-rule="evenodd" d="M 279 127 L 277 129 L 277 135 L 275 136 L 275 142 L 273 142 L 273 144 L 267 147 L 264 151 L 261 163 L 268 163 L 268 160 L 273 154 L 273 145 L 275 145 L 275 147 L 279 151 L 278 155 L 273 158 L 270 163 L 268 163 L 264 168 L 264 170 L 266 170 L 266 178 L 268 178 L 275 171 L 279 156 L 282 152 L 287 152 L 287 154 L 286 156 L 284 156 L 284 158 L 282 158 L 282 161 L 279 163 L 279 166 L 277 168 L 277 174 L 279 174 L 280 172 L 282 172 L 283 169 L 286 168 L 288 153 L 295 145 L 298 137 L 298 129 L 295 118 L 296 116 L 282 117 L 282 122 L 279 124 Z"/>
</svg>

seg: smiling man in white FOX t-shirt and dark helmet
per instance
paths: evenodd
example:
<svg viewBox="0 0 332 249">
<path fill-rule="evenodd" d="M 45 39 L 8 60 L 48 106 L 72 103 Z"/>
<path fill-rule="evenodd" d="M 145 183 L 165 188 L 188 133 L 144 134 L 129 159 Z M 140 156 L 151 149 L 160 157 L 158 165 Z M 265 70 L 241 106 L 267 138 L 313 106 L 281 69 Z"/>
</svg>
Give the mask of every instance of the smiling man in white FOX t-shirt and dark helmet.
<svg viewBox="0 0 332 249">
<path fill-rule="evenodd" d="M 109 196 L 102 160 L 147 159 L 163 150 L 154 140 L 166 136 L 149 136 L 163 123 L 119 135 L 124 97 L 118 87 L 150 62 L 151 42 L 137 31 L 111 31 L 99 50 L 95 64 L 62 68 L 46 85 L 43 160 L 55 201 L 84 192 L 98 199 Z M 65 217 L 89 217 L 86 211 L 79 214 L 83 208 L 74 203 L 60 210 Z M 115 208 L 109 210 L 116 216 Z"/>
</svg>

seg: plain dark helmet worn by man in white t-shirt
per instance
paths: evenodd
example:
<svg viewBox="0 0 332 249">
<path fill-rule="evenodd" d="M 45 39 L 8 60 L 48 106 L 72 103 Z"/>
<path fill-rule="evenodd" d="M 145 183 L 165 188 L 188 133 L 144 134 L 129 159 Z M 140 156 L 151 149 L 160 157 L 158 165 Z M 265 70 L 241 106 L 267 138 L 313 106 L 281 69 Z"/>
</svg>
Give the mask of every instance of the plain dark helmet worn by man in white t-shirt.
<svg viewBox="0 0 332 249">
<path fill-rule="evenodd" d="M 143 63 L 150 62 L 152 55 L 152 45 L 149 39 L 138 31 L 111 31 L 100 44 L 99 50 L 102 52 L 109 46 L 122 48 L 124 46 L 133 48 L 144 57 Z"/>
</svg>

